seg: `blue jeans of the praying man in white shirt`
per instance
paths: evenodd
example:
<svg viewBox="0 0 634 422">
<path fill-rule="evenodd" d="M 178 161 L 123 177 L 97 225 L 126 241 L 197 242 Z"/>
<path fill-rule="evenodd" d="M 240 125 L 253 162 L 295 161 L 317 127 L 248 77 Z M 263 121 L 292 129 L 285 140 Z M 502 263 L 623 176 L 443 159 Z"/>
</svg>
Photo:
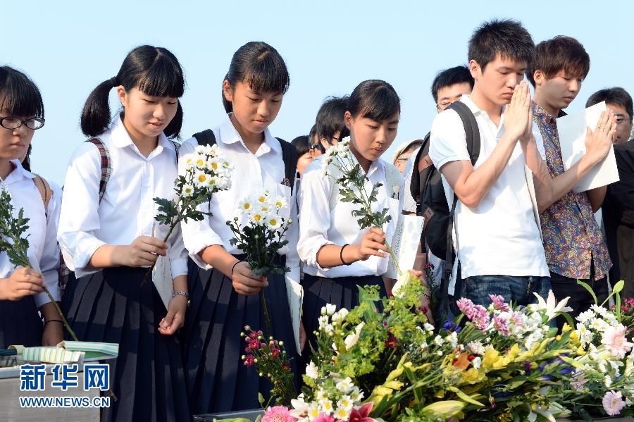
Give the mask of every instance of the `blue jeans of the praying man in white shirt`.
<svg viewBox="0 0 634 422">
<path fill-rule="evenodd" d="M 535 294 L 546 299 L 550 290 L 549 277 L 515 277 L 512 275 L 475 275 L 462 280 L 461 297 L 471 299 L 476 305 L 489 306 L 489 294 L 499 294 L 504 302 L 513 301 L 526 306 L 537 303 Z"/>
</svg>

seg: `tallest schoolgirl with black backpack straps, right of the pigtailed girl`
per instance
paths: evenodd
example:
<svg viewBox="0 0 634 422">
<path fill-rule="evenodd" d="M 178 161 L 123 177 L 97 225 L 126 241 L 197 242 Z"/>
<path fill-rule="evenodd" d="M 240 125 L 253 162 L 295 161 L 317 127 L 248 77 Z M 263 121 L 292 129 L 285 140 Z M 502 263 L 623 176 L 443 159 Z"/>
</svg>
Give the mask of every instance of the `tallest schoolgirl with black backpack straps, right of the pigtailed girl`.
<svg viewBox="0 0 634 422">
<path fill-rule="evenodd" d="M 213 130 L 197 133 L 180 149 L 181 170 L 187 156 L 204 144 L 216 144 L 235 166 L 230 190 L 218 192 L 209 203 L 199 206 L 211 215 L 182 225 L 185 247 L 192 258 L 192 305 L 183 337 L 187 392 L 194 414 L 256 409 L 258 393 L 266 395 L 271 390 L 268 381 L 241 360 L 244 340 L 240 332 L 244 326 L 265 330 L 261 289 L 266 292 L 271 335 L 285 343 L 287 356 L 294 358 L 303 343 L 299 303 L 290 299 L 292 286 L 299 287 L 297 192 L 292 190 L 297 153 L 292 144 L 276 139 L 268 129 L 278 116 L 289 81 L 286 64 L 272 46 L 264 42 L 244 44 L 233 55 L 223 80 L 227 115 Z M 268 278 L 251 273 L 242 251 L 231 244 L 233 234 L 226 224 L 236 215 L 240 201 L 263 190 L 283 197 L 289 204 L 285 217 L 294 221 L 286 233 L 290 242 L 276 257 L 290 273 Z M 296 310 L 295 318 L 292 309 Z M 296 360 L 291 364 L 297 375 Z"/>
</svg>

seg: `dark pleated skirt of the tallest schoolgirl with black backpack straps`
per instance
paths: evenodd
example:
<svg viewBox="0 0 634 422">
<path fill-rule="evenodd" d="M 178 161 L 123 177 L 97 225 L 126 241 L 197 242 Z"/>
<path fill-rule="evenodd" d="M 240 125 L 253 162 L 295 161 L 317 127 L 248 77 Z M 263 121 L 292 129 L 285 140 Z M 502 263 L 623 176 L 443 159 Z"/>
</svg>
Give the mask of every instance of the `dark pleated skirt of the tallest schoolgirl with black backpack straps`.
<svg viewBox="0 0 634 422">
<path fill-rule="evenodd" d="M 295 340 L 283 275 L 270 275 L 264 290 L 275 340 L 283 340 L 297 385 Z M 247 368 L 241 356 L 246 343 L 244 325 L 266 333 L 259 294 L 244 296 L 233 290 L 220 271 L 201 270 L 189 260 L 189 297 L 183 355 L 192 413 L 209 414 L 260 407 L 258 393 L 268 400 L 271 383 Z"/>
</svg>

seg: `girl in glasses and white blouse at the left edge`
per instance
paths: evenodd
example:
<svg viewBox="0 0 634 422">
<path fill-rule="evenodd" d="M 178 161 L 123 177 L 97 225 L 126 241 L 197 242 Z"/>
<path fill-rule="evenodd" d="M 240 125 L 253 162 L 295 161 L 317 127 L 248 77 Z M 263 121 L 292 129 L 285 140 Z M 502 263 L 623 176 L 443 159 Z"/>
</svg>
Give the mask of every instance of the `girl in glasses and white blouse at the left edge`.
<svg viewBox="0 0 634 422">
<path fill-rule="evenodd" d="M 43 126 L 44 103 L 35 83 L 19 70 L 0 67 L 0 190 L 11 196 L 14 216 L 23 209 L 29 218 L 27 256 L 36 267 L 16 269 L 6 252 L 0 254 L 0 349 L 54 346 L 63 340 L 61 316 L 43 288 L 60 299 L 56 235 L 61 190 L 20 162 L 35 130 Z"/>
</svg>

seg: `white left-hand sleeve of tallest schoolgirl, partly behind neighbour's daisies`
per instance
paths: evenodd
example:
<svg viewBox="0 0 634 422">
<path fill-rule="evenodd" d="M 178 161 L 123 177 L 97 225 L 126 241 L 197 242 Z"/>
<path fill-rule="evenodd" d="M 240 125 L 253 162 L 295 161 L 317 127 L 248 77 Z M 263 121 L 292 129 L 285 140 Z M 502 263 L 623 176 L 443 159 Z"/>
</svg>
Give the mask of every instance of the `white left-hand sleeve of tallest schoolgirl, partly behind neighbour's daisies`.
<svg viewBox="0 0 634 422">
<path fill-rule="evenodd" d="M 180 154 L 178 159 L 178 175 L 185 175 L 185 163 L 187 158 L 195 153 L 198 142 L 196 138 L 187 139 L 180 146 Z M 208 213 L 209 202 L 204 202 L 198 206 L 198 210 Z M 182 241 L 185 249 L 189 253 L 189 257 L 194 260 L 200 268 L 210 269 L 211 266 L 203 261 L 198 255 L 199 252 L 213 244 L 223 245 L 223 240 L 213 231 L 209 225 L 209 218 L 203 218 L 201 221 L 187 220 L 186 223 L 180 225 L 182 231 Z"/>
</svg>

